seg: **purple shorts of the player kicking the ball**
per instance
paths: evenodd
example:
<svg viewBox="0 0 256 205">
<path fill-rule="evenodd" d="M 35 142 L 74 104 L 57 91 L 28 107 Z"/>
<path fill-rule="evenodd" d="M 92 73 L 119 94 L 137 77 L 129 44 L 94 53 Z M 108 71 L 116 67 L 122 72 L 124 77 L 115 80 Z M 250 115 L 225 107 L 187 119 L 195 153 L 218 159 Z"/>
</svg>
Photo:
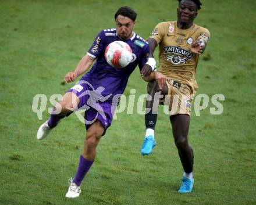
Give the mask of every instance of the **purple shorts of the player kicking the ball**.
<svg viewBox="0 0 256 205">
<path fill-rule="evenodd" d="M 79 98 L 78 110 L 86 110 L 84 113 L 84 124 L 86 130 L 96 120 L 100 121 L 106 129 L 111 125 L 117 102 L 109 102 L 108 96 L 102 96 L 102 87 L 94 89 L 87 81 L 79 81 L 66 92 L 73 92 Z M 105 134 L 104 132 L 104 134 Z"/>
</svg>

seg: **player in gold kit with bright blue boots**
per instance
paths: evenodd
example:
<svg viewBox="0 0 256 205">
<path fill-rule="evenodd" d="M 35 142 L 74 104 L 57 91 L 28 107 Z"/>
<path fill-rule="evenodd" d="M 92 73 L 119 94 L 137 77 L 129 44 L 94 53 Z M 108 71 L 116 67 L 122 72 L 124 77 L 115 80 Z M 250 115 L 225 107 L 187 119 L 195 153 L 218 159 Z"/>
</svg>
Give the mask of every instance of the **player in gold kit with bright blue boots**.
<svg viewBox="0 0 256 205">
<path fill-rule="evenodd" d="M 177 21 L 157 24 L 148 38 L 150 56 L 143 67 L 141 75 L 149 81 L 146 107 L 150 112 L 145 114 L 146 135 L 141 154 L 152 153 L 155 146 L 154 129 L 157 122 L 157 93 L 163 95 L 163 100 L 169 102 L 170 123 L 184 169 L 180 193 L 193 190 L 193 149 L 189 146 L 188 132 L 190 123 L 191 101 L 197 90 L 195 72 L 199 56 L 207 45 L 210 37 L 207 28 L 193 23 L 201 8 L 200 0 L 178 0 Z M 155 69 L 153 53 L 159 47 L 159 67 Z M 169 96 L 169 99 L 167 99 Z M 158 99 L 161 96 L 158 95 Z M 157 102 L 157 103 L 154 103 Z M 157 106 L 155 106 L 157 104 Z"/>
</svg>

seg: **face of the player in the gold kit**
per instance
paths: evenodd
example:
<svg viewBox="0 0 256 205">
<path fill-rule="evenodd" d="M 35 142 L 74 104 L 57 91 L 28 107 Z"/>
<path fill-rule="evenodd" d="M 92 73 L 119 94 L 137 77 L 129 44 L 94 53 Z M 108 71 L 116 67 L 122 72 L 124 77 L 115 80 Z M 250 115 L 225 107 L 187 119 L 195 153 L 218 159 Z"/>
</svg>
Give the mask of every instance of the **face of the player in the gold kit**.
<svg viewBox="0 0 256 205">
<path fill-rule="evenodd" d="M 177 8 L 177 18 L 181 23 L 193 23 L 197 16 L 197 5 L 190 0 L 182 0 Z"/>
</svg>

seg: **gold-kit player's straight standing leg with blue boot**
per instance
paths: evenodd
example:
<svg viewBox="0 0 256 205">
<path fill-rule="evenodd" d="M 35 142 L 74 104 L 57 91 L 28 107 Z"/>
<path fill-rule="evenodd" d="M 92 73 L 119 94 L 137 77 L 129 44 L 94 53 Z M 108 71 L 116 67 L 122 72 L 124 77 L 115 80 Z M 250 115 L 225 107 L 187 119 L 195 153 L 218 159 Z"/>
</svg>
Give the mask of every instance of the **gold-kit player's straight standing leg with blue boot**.
<svg viewBox="0 0 256 205">
<path fill-rule="evenodd" d="M 193 165 L 194 154 L 193 149 L 189 146 L 188 134 L 190 116 L 187 114 L 176 114 L 170 117 L 172 123 L 172 132 L 175 139 L 175 145 L 178 149 L 180 160 L 184 169 L 182 178 L 182 186 L 180 186 L 180 193 L 188 193 L 193 189 Z"/>
</svg>

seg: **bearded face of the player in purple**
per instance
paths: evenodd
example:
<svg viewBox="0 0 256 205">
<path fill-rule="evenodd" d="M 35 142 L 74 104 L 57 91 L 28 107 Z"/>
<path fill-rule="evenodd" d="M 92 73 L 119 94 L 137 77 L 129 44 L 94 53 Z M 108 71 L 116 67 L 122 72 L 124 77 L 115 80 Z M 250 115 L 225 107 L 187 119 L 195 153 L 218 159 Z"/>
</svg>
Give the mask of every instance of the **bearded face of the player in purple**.
<svg viewBox="0 0 256 205">
<path fill-rule="evenodd" d="M 131 38 L 133 35 L 134 25 L 135 21 L 128 17 L 121 15 L 116 17 L 116 32 L 118 33 L 118 37 L 123 40 Z"/>
</svg>

